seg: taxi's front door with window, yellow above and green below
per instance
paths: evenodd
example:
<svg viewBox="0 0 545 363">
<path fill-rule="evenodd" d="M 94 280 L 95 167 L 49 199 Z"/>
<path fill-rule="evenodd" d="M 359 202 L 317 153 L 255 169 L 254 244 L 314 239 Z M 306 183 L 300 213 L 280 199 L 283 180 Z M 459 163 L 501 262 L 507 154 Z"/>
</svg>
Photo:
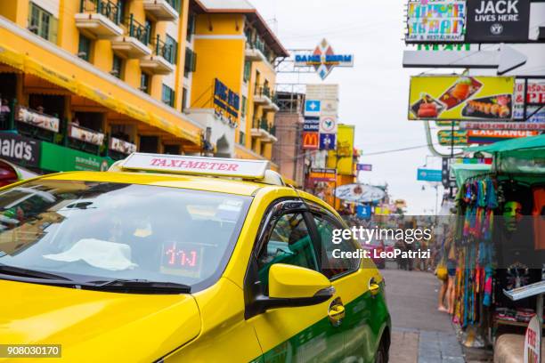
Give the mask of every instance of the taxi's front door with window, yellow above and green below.
<svg viewBox="0 0 545 363">
<path fill-rule="evenodd" d="M 322 303 L 256 311 L 259 296 L 269 298 L 268 277 L 274 264 L 321 270 L 312 214 L 300 200 L 280 203 L 284 206 L 273 207 L 273 212 L 264 217 L 265 227 L 257 237 L 244 284 L 246 318 L 255 328 L 264 352 L 260 360 L 338 362 L 345 358 L 344 333 L 338 324 L 344 311 L 336 303 L 342 299 L 338 293 Z"/>
</svg>

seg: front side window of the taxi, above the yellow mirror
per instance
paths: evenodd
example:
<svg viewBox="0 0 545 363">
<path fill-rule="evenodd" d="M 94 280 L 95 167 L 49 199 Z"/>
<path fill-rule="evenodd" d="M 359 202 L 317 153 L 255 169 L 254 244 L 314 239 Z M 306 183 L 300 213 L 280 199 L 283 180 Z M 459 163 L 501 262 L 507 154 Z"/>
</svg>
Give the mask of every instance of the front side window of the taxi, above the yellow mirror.
<svg viewBox="0 0 545 363">
<path fill-rule="evenodd" d="M 318 259 L 303 214 L 282 215 L 257 258 L 259 280 L 268 286 L 269 270 L 274 263 L 286 263 L 318 270 Z"/>
</svg>

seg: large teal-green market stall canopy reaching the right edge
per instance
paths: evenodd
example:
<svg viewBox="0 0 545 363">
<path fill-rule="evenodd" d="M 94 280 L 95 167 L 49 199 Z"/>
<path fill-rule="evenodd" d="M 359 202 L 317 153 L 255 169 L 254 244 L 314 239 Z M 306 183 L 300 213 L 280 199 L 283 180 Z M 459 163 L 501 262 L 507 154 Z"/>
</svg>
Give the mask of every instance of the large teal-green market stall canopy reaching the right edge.
<svg viewBox="0 0 545 363">
<path fill-rule="evenodd" d="M 495 142 L 468 148 L 465 152 L 492 154 L 496 172 L 545 173 L 545 135 Z"/>
</svg>

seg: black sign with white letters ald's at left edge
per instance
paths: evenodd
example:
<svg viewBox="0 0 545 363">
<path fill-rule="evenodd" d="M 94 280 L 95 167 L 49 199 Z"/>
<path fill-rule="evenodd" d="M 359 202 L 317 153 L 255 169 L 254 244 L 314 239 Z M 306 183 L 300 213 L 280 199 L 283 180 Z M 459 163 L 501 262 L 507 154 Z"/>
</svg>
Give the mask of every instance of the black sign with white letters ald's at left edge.
<svg viewBox="0 0 545 363">
<path fill-rule="evenodd" d="M 0 133 L 0 157 L 17 165 L 39 165 L 40 149 L 40 141 L 17 133 Z"/>
</svg>

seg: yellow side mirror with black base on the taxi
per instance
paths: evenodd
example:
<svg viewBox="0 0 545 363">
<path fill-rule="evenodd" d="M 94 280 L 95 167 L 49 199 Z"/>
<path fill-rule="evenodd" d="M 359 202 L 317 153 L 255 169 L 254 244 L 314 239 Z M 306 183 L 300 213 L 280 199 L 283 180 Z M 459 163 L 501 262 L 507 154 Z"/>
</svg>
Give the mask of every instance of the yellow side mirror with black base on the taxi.
<svg viewBox="0 0 545 363">
<path fill-rule="evenodd" d="M 335 287 L 320 272 L 304 267 L 275 263 L 269 270 L 269 295 L 256 303 L 263 311 L 282 307 L 309 306 L 327 302 Z"/>
</svg>

